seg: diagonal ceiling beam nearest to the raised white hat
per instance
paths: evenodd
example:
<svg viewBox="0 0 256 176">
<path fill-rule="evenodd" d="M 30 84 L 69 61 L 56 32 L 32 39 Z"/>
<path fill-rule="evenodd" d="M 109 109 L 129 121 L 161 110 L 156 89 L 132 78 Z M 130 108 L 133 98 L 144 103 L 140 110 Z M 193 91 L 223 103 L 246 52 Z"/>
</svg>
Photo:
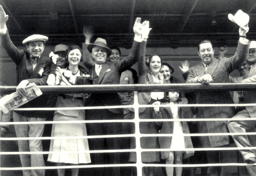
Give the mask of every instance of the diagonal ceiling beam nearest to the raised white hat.
<svg viewBox="0 0 256 176">
<path fill-rule="evenodd" d="M 187 5 L 184 9 L 184 15 L 182 18 L 182 24 L 180 25 L 179 28 L 179 32 L 182 33 L 182 31 L 184 30 L 186 23 L 190 17 L 190 15 L 192 14 L 192 12 L 194 11 L 194 8 L 197 4 L 198 0 L 187 0 Z"/>
</svg>

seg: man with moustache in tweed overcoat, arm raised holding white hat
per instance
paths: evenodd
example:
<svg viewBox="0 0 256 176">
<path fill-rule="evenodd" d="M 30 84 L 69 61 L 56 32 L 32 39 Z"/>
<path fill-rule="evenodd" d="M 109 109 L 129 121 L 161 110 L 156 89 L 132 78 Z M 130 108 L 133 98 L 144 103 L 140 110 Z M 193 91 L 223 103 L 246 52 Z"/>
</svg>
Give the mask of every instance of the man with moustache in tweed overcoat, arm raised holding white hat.
<svg viewBox="0 0 256 176">
<path fill-rule="evenodd" d="M 248 56 L 248 23 L 239 29 L 239 43 L 236 53 L 231 58 L 218 60 L 214 57 L 214 47 L 209 40 L 203 40 L 198 45 L 198 54 L 201 63 L 188 70 L 186 83 L 228 83 L 229 73 L 239 69 Z M 232 104 L 233 100 L 229 91 L 221 92 L 196 92 L 197 104 Z M 231 118 L 234 115 L 234 107 L 198 107 L 196 118 Z M 198 122 L 199 133 L 227 133 L 225 121 L 201 121 Z M 201 147 L 220 147 L 229 144 L 228 136 L 202 136 L 199 137 Z M 219 151 L 206 151 L 209 163 L 220 162 Z M 211 176 L 219 176 L 221 167 L 210 167 Z"/>
</svg>

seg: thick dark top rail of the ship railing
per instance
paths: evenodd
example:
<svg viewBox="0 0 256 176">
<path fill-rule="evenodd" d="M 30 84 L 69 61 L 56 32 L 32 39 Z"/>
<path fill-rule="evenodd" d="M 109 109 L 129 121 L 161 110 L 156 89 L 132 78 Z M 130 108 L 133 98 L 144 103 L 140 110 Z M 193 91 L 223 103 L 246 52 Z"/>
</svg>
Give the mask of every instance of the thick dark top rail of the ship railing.
<svg viewBox="0 0 256 176">
<path fill-rule="evenodd" d="M 103 93 L 103 92 L 209 92 L 209 91 L 255 91 L 256 83 L 204 84 L 109 84 L 109 85 L 55 85 L 39 86 L 43 93 Z M 0 86 L 1 93 L 15 92 L 16 86 Z"/>
</svg>

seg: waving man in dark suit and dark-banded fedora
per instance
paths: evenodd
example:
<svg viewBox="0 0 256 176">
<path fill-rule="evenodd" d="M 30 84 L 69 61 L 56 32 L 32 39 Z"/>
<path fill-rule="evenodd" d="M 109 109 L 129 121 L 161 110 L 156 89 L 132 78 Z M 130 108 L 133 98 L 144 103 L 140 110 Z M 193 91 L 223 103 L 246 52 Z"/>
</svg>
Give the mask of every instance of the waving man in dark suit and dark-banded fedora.
<svg viewBox="0 0 256 176">
<path fill-rule="evenodd" d="M 90 69 L 93 84 L 119 84 L 122 71 L 132 67 L 138 61 L 140 53 L 141 23 L 136 18 L 133 26 L 135 33 L 131 54 L 123 60 L 107 62 L 107 57 L 112 54 L 111 49 L 103 38 L 97 38 L 94 43 L 83 47 L 85 66 L 93 66 Z M 148 31 L 149 33 L 149 31 Z M 147 35 L 148 35 L 147 33 Z M 116 106 L 122 105 L 117 93 L 93 93 L 91 100 L 85 102 L 86 106 Z M 122 119 L 123 108 L 92 109 L 86 111 L 86 120 L 112 120 Z M 87 123 L 88 135 L 117 135 L 121 134 L 121 123 Z M 90 150 L 120 149 L 120 138 L 94 138 L 89 139 Z M 91 154 L 93 164 L 118 164 L 120 153 Z M 97 168 L 92 175 L 120 176 L 120 168 Z"/>
</svg>

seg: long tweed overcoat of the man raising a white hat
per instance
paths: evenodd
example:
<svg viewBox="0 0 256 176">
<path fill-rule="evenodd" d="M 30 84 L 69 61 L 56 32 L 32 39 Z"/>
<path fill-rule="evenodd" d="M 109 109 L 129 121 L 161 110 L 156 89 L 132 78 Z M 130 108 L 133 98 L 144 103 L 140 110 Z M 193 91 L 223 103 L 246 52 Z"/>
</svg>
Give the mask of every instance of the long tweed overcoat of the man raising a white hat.
<svg viewBox="0 0 256 176">
<path fill-rule="evenodd" d="M 205 74 L 211 75 L 213 83 L 228 83 L 229 73 L 238 69 L 248 56 L 248 45 L 238 44 L 236 53 L 231 58 L 217 60 L 209 64 L 207 71 L 201 63 L 188 70 L 186 83 L 197 83 L 197 79 Z M 225 104 L 233 103 L 229 91 L 196 92 L 197 104 Z M 234 107 L 199 107 L 197 118 L 231 118 L 234 115 Z M 198 122 L 199 133 L 226 133 L 226 122 Z M 228 136 L 200 137 L 203 147 L 217 147 L 229 144 Z"/>
</svg>

